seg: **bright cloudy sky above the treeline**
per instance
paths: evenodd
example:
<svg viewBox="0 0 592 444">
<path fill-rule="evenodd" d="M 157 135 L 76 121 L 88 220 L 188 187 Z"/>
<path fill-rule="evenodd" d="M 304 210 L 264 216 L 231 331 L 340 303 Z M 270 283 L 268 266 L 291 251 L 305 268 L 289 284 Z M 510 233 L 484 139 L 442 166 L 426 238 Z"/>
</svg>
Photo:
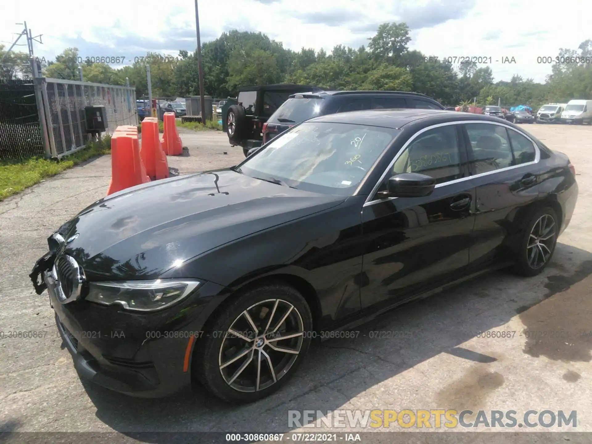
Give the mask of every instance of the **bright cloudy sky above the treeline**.
<svg viewBox="0 0 592 444">
<path fill-rule="evenodd" d="M 491 57 L 494 78 L 513 74 L 545 81 L 551 66 L 537 57 L 555 57 L 559 48 L 577 49 L 592 38 L 592 2 L 576 0 L 226 0 L 200 1 L 201 39 L 224 31 L 260 31 L 284 47 L 356 49 L 367 44 L 378 25 L 405 21 L 411 49 L 443 57 Z M 8 46 L 27 21 L 37 56 L 53 59 L 76 46 L 82 57 L 123 56 L 133 60 L 147 51 L 176 55 L 195 49 L 192 0 L 101 0 L 101 8 L 75 0 L 5 2 L 0 41 Z M 22 40 L 21 40 L 22 42 Z M 26 50 L 27 47 L 17 47 Z M 514 57 L 516 63 L 502 63 Z M 498 60 L 498 62 L 496 62 Z"/>
</svg>

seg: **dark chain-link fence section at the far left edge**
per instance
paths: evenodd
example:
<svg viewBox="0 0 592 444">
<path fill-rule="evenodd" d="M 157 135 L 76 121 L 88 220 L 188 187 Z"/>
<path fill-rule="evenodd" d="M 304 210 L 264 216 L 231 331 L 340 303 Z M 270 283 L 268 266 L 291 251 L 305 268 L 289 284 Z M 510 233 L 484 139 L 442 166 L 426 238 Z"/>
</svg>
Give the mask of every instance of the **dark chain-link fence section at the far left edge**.
<svg viewBox="0 0 592 444">
<path fill-rule="evenodd" d="M 32 80 L 0 81 L 0 159 L 43 156 Z"/>
</svg>

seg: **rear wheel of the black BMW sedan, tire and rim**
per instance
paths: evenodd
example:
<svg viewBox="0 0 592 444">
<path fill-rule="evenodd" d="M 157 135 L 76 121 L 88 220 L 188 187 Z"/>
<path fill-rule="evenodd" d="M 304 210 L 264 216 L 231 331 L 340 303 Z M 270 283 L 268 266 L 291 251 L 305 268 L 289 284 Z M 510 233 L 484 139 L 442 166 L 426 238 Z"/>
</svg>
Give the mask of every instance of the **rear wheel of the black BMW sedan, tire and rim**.
<svg viewBox="0 0 592 444">
<path fill-rule="evenodd" d="M 514 271 L 522 276 L 536 276 L 542 272 L 553 256 L 558 234 L 555 210 L 545 207 L 536 211 L 526 224 Z"/>
</svg>

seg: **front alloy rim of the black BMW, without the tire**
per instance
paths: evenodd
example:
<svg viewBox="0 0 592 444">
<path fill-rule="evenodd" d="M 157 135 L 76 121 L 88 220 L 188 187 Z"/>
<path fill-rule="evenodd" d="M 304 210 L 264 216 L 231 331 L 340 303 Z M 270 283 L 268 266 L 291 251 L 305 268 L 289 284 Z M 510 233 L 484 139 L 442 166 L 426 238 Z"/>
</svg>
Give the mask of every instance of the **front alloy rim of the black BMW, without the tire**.
<svg viewBox="0 0 592 444">
<path fill-rule="evenodd" d="M 234 390 L 264 390 L 296 361 L 304 326 L 297 308 L 281 299 L 261 301 L 243 311 L 226 332 L 218 365 Z"/>
</svg>

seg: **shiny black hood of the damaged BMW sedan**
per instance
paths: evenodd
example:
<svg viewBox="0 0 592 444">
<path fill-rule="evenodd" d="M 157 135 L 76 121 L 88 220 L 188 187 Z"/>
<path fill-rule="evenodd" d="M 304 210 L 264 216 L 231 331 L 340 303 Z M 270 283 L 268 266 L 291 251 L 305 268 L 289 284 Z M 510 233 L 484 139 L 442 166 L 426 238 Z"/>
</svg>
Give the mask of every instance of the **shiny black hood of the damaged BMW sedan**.
<svg viewBox="0 0 592 444">
<path fill-rule="evenodd" d="M 345 199 L 217 170 L 112 194 L 58 231 L 89 280 L 155 279 L 215 247 Z"/>
</svg>

